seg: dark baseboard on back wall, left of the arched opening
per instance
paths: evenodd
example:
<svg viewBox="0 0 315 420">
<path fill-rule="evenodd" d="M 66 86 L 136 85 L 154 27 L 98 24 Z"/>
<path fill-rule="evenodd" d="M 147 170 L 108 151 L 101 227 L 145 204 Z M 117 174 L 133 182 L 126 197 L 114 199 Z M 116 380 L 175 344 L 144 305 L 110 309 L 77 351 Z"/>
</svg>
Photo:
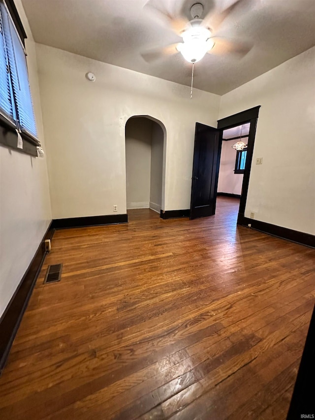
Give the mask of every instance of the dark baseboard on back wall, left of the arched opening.
<svg viewBox="0 0 315 420">
<path fill-rule="evenodd" d="M 127 223 L 127 214 L 109 214 L 105 216 L 86 216 L 70 217 L 67 219 L 54 219 L 52 226 L 54 229 L 67 229 L 70 227 L 88 227 L 101 225 L 116 225 L 118 223 Z"/>
</svg>

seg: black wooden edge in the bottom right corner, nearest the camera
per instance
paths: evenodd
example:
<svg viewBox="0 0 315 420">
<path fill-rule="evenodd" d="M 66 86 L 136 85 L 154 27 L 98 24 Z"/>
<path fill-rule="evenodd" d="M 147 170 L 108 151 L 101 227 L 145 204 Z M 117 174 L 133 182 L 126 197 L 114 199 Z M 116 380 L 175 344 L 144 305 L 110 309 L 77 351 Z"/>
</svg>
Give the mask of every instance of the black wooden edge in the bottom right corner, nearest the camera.
<svg viewBox="0 0 315 420">
<path fill-rule="evenodd" d="M 307 333 L 305 347 L 297 373 L 290 408 L 286 420 L 301 419 L 302 414 L 315 415 L 315 307 Z M 312 417 L 309 417 L 312 419 Z"/>
</svg>

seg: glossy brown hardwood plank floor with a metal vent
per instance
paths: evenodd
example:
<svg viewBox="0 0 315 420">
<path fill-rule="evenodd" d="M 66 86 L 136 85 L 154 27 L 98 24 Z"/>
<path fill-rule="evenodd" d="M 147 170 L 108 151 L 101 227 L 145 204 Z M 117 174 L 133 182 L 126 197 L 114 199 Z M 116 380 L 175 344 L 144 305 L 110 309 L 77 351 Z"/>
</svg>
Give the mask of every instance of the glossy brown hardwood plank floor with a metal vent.
<svg viewBox="0 0 315 420">
<path fill-rule="evenodd" d="M 210 218 L 56 231 L 0 378 L 1 419 L 285 419 L 315 250 Z M 43 285 L 48 264 L 60 283 Z"/>
</svg>

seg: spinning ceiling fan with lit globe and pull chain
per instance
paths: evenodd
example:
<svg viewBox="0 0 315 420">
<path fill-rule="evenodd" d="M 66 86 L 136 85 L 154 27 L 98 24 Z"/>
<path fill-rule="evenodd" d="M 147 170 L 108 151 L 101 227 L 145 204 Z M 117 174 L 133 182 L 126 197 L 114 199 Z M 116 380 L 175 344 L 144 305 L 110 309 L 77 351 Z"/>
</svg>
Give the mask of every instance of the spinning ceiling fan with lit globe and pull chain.
<svg viewBox="0 0 315 420">
<path fill-rule="evenodd" d="M 184 8 L 176 13 L 170 13 L 163 7 L 161 0 L 149 0 L 144 6 L 158 15 L 173 32 L 182 38 L 182 42 L 147 51 L 141 54 L 142 57 L 145 61 L 151 63 L 163 56 L 180 52 L 186 61 L 192 63 L 191 97 L 193 65 L 203 59 L 207 53 L 216 55 L 234 54 L 242 57 L 252 48 L 249 42 L 237 42 L 216 36 L 216 32 L 224 19 L 232 13 L 236 6 L 246 3 L 248 0 L 232 0 L 232 3 L 220 12 L 213 12 L 213 0 L 202 1 L 208 6 L 210 3 L 210 8 L 208 7 L 208 10 L 205 11 L 206 7 L 202 3 L 192 4 L 189 9 L 191 20 L 183 12 Z M 205 16 L 203 17 L 203 15 Z"/>
</svg>

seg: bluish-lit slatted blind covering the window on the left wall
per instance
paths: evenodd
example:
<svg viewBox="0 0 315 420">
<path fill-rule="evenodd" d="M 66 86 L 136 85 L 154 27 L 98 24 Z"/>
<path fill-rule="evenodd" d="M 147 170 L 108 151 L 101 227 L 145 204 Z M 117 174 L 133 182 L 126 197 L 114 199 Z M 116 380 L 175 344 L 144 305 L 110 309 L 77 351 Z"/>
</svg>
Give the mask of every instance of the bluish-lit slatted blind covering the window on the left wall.
<svg viewBox="0 0 315 420">
<path fill-rule="evenodd" d="M 36 139 L 37 129 L 24 48 L 9 13 L 1 1 L 0 13 L 2 32 L 4 34 L 4 38 L 3 36 L 2 38 L 4 39 L 3 44 L 5 45 L 6 62 L 9 67 L 10 77 L 8 92 L 11 94 L 11 101 L 8 100 L 7 103 L 11 102 L 12 111 L 8 115 L 16 120 L 18 129 Z M 8 107 L 9 105 L 6 104 L 6 106 Z M 7 111 L 5 112 L 8 113 Z"/>
</svg>

